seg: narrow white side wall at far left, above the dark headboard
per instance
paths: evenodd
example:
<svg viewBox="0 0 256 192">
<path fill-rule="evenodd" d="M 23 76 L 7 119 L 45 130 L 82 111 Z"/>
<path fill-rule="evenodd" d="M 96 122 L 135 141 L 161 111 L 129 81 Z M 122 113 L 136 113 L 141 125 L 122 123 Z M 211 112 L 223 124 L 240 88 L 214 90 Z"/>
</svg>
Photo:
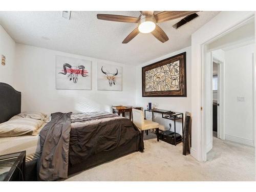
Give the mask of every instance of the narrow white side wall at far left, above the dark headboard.
<svg viewBox="0 0 256 192">
<path fill-rule="evenodd" d="M 0 59 L 2 55 L 6 57 L 6 65 L 0 63 L 0 82 L 14 84 L 14 59 L 15 59 L 15 41 L 8 35 L 5 29 L 0 25 Z"/>
</svg>

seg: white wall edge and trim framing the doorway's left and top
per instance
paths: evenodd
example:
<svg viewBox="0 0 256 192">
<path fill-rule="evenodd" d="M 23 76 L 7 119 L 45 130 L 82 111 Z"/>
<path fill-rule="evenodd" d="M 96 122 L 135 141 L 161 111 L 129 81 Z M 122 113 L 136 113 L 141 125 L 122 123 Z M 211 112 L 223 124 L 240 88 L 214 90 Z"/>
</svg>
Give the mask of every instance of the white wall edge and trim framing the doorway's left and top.
<svg viewBox="0 0 256 192">
<path fill-rule="evenodd" d="M 191 114 L 192 114 L 192 146 L 191 155 L 198 161 L 206 161 L 205 138 L 203 116 L 203 66 L 204 45 L 220 36 L 230 32 L 245 20 L 254 16 L 252 11 L 221 12 L 212 18 L 207 24 L 191 35 Z"/>
</svg>

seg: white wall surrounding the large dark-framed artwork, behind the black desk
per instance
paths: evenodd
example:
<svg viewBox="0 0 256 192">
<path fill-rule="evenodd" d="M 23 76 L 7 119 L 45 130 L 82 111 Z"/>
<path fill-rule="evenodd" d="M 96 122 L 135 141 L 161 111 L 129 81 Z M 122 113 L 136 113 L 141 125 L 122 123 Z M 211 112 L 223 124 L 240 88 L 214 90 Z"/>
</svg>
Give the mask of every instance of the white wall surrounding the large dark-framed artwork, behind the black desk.
<svg viewBox="0 0 256 192">
<path fill-rule="evenodd" d="M 187 78 L 187 97 L 142 97 L 142 67 L 150 65 L 156 61 L 177 55 L 179 53 L 186 52 L 186 78 Z M 152 102 L 153 106 L 156 105 L 158 109 L 172 110 L 176 112 L 183 112 L 185 117 L 185 112 L 190 112 L 191 110 L 191 48 L 187 47 L 179 51 L 164 55 L 162 57 L 156 58 L 154 60 L 143 63 L 142 65 L 136 67 L 136 105 L 142 106 L 143 109 L 146 109 L 148 102 Z M 151 113 L 146 113 L 147 119 L 152 119 Z M 169 122 L 172 123 L 172 130 L 174 130 L 173 121 L 163 119 L 161 114 L 155 113 L 155 120 L 162 125 L 165 125 L 165 129 L 168 129 Z M 182 133 L 181 121 L 177 121 L 177 133 Z"/>
</svg>

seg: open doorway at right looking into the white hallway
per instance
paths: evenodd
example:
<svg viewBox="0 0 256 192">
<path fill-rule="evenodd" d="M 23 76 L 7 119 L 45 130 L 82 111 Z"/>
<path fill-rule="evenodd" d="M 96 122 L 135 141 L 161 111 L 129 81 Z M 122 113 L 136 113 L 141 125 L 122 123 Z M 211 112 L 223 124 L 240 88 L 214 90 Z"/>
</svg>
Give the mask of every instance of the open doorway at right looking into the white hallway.
<svg viewBox="0 0 256 192">
<path fill-rule="evenodd" d="M 204 53 L 206 154 L 217 138 L 254 146 L 254 18 L 204 45 Z"/>
</svg>

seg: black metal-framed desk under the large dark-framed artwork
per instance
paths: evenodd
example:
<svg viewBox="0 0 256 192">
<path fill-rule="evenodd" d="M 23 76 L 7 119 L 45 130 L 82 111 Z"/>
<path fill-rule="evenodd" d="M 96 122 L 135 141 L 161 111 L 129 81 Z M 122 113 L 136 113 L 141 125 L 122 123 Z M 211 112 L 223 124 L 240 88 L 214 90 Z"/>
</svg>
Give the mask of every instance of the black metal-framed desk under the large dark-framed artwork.
<svg viewBox="0 0 256 192">
<path fill-rule="evenodd" d="M 172 112 L 170 113 L 169 110 L 144 110 L 144 117 L 146 117 L 146 111 L 152 112 L 152 121 L 154 121 L 154 113 L 162 114 L 163 119 L 169 119 L 174 121 L 174 143 L 175 145 L 183 140 L 183 133 L 184 133 L 184 121 L 183 121 L 183 113 L 180 112 Z M 178 141 L 176 141 L 176 120 L 181 119 L 182 121 L 182 137 Z"/>
</svg>

